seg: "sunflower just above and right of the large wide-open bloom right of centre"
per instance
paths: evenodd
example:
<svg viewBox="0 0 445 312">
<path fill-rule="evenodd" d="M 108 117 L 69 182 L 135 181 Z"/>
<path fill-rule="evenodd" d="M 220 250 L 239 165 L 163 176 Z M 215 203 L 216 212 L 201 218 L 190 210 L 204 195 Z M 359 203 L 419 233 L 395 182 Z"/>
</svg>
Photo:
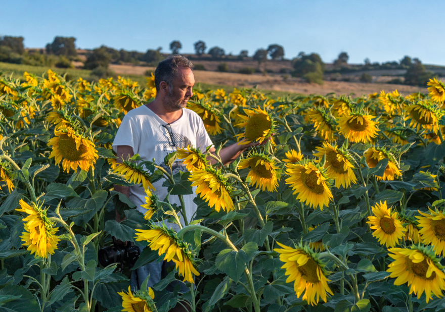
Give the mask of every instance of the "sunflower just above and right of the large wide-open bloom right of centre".
<svg viewBox="0 0 445 312">
<path fill-rule="evenodd" d="M 352 171 L 354 166 L 344 150 L 338 148 L 337 145 L 332 146 L 328 142 L 323 142 L 323 147 L 316 147 L 315 149 L 318 152 L 314 156 L 320 160 L 326 154 L 324 168 L 327 176 L 335 180 L 335 187 L 339 188 L 341 185 L 348 188 L 351 183 L 357 182 L 357 178 Z"/>
</svg>

